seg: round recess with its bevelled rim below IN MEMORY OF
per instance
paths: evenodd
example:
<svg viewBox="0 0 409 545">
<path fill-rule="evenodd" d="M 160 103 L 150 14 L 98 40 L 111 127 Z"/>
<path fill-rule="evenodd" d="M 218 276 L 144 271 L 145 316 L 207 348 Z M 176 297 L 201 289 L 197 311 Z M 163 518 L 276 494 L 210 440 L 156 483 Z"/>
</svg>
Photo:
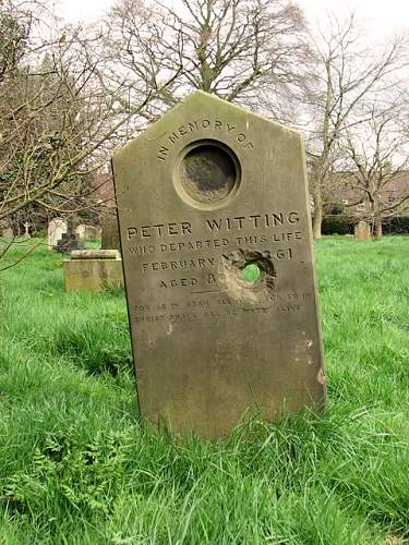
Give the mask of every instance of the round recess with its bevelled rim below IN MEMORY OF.
<svg viewBox="0 0 409 545">
<path fill-rule="evenodd" d="M 221 142 L 203 140 L 187 146 L 177 162 L 175 185 L 191 206 L 219 208 L 237 192 L 240 162 L 232 149 Z"/>
</svg>

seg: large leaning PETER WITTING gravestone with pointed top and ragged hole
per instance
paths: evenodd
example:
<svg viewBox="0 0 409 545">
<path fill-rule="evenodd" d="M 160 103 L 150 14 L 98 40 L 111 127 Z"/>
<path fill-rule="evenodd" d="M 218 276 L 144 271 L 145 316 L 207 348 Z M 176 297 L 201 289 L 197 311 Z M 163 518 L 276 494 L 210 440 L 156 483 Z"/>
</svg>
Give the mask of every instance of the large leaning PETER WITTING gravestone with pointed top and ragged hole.
<svg viewBox="0 0 409 545">
<path fill-rule="evenodd" d="M 321 408 L 300 135 L 197 92 L 113 171 L 142 416 L 216 437 Z"/>
</svg>

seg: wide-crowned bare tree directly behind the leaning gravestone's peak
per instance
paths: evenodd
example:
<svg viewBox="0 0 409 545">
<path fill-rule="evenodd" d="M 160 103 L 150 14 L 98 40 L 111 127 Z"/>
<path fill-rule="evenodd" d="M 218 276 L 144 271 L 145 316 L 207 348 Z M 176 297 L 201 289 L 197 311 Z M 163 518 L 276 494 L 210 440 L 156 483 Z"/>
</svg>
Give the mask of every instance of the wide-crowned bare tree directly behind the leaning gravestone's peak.
<svg viewBox="0 0 409 545">
<path fill-rule="evenodd" d="M 107 21 L 111 51 L 101 78 L 130 111 L 134 96 L 178 71 L 148 111 L 154 120 L 191 89 L 285 117 L 308 81 L 310 55 L 301 10 L 286 0 L 120 0 Z M 128 84 L 123 83 L 123 73 Z M 287 113 L 287 111 L 286 111 Z"/>
</svg>

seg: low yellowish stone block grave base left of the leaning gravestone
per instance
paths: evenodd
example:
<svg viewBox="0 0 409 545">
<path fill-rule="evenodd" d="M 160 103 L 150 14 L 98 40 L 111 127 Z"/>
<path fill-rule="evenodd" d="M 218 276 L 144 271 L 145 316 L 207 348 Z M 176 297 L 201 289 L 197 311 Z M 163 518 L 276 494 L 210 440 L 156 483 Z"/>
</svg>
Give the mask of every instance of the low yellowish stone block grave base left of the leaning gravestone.
<svg viewBox="0 0 409 545">
<path fill-rule="evenodd" d="M 107 288 L 123 288 L 122 259 L 100 257 L 91 252 L 85 255 L 85 252 L 81 256 L 81 251 L 74 251 L 73 258 L 63 262 L 67 291 L 97 292 Z"/>
</svg>

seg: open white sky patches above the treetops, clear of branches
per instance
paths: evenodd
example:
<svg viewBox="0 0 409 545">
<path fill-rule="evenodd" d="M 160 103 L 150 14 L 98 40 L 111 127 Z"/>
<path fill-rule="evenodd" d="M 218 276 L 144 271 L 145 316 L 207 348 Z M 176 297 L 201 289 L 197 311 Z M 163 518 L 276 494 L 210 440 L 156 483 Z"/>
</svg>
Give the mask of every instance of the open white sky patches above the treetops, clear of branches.
<svg viewBox="0 0 409 545">
<path fill-rule="evenodd" d="M 169 5 L 175 1 L 163 0 Z M 94 21 L 113 3 L 115 0 L 56 0 L 58 12 L 71 22 Z M 298 0 L 297 3 L 314 26 L 325 11 L 342 14 L 353 10 L 357 19 L 364 22 L 374 35 L 409 28 L 409 0 Z"/>
</svg>

